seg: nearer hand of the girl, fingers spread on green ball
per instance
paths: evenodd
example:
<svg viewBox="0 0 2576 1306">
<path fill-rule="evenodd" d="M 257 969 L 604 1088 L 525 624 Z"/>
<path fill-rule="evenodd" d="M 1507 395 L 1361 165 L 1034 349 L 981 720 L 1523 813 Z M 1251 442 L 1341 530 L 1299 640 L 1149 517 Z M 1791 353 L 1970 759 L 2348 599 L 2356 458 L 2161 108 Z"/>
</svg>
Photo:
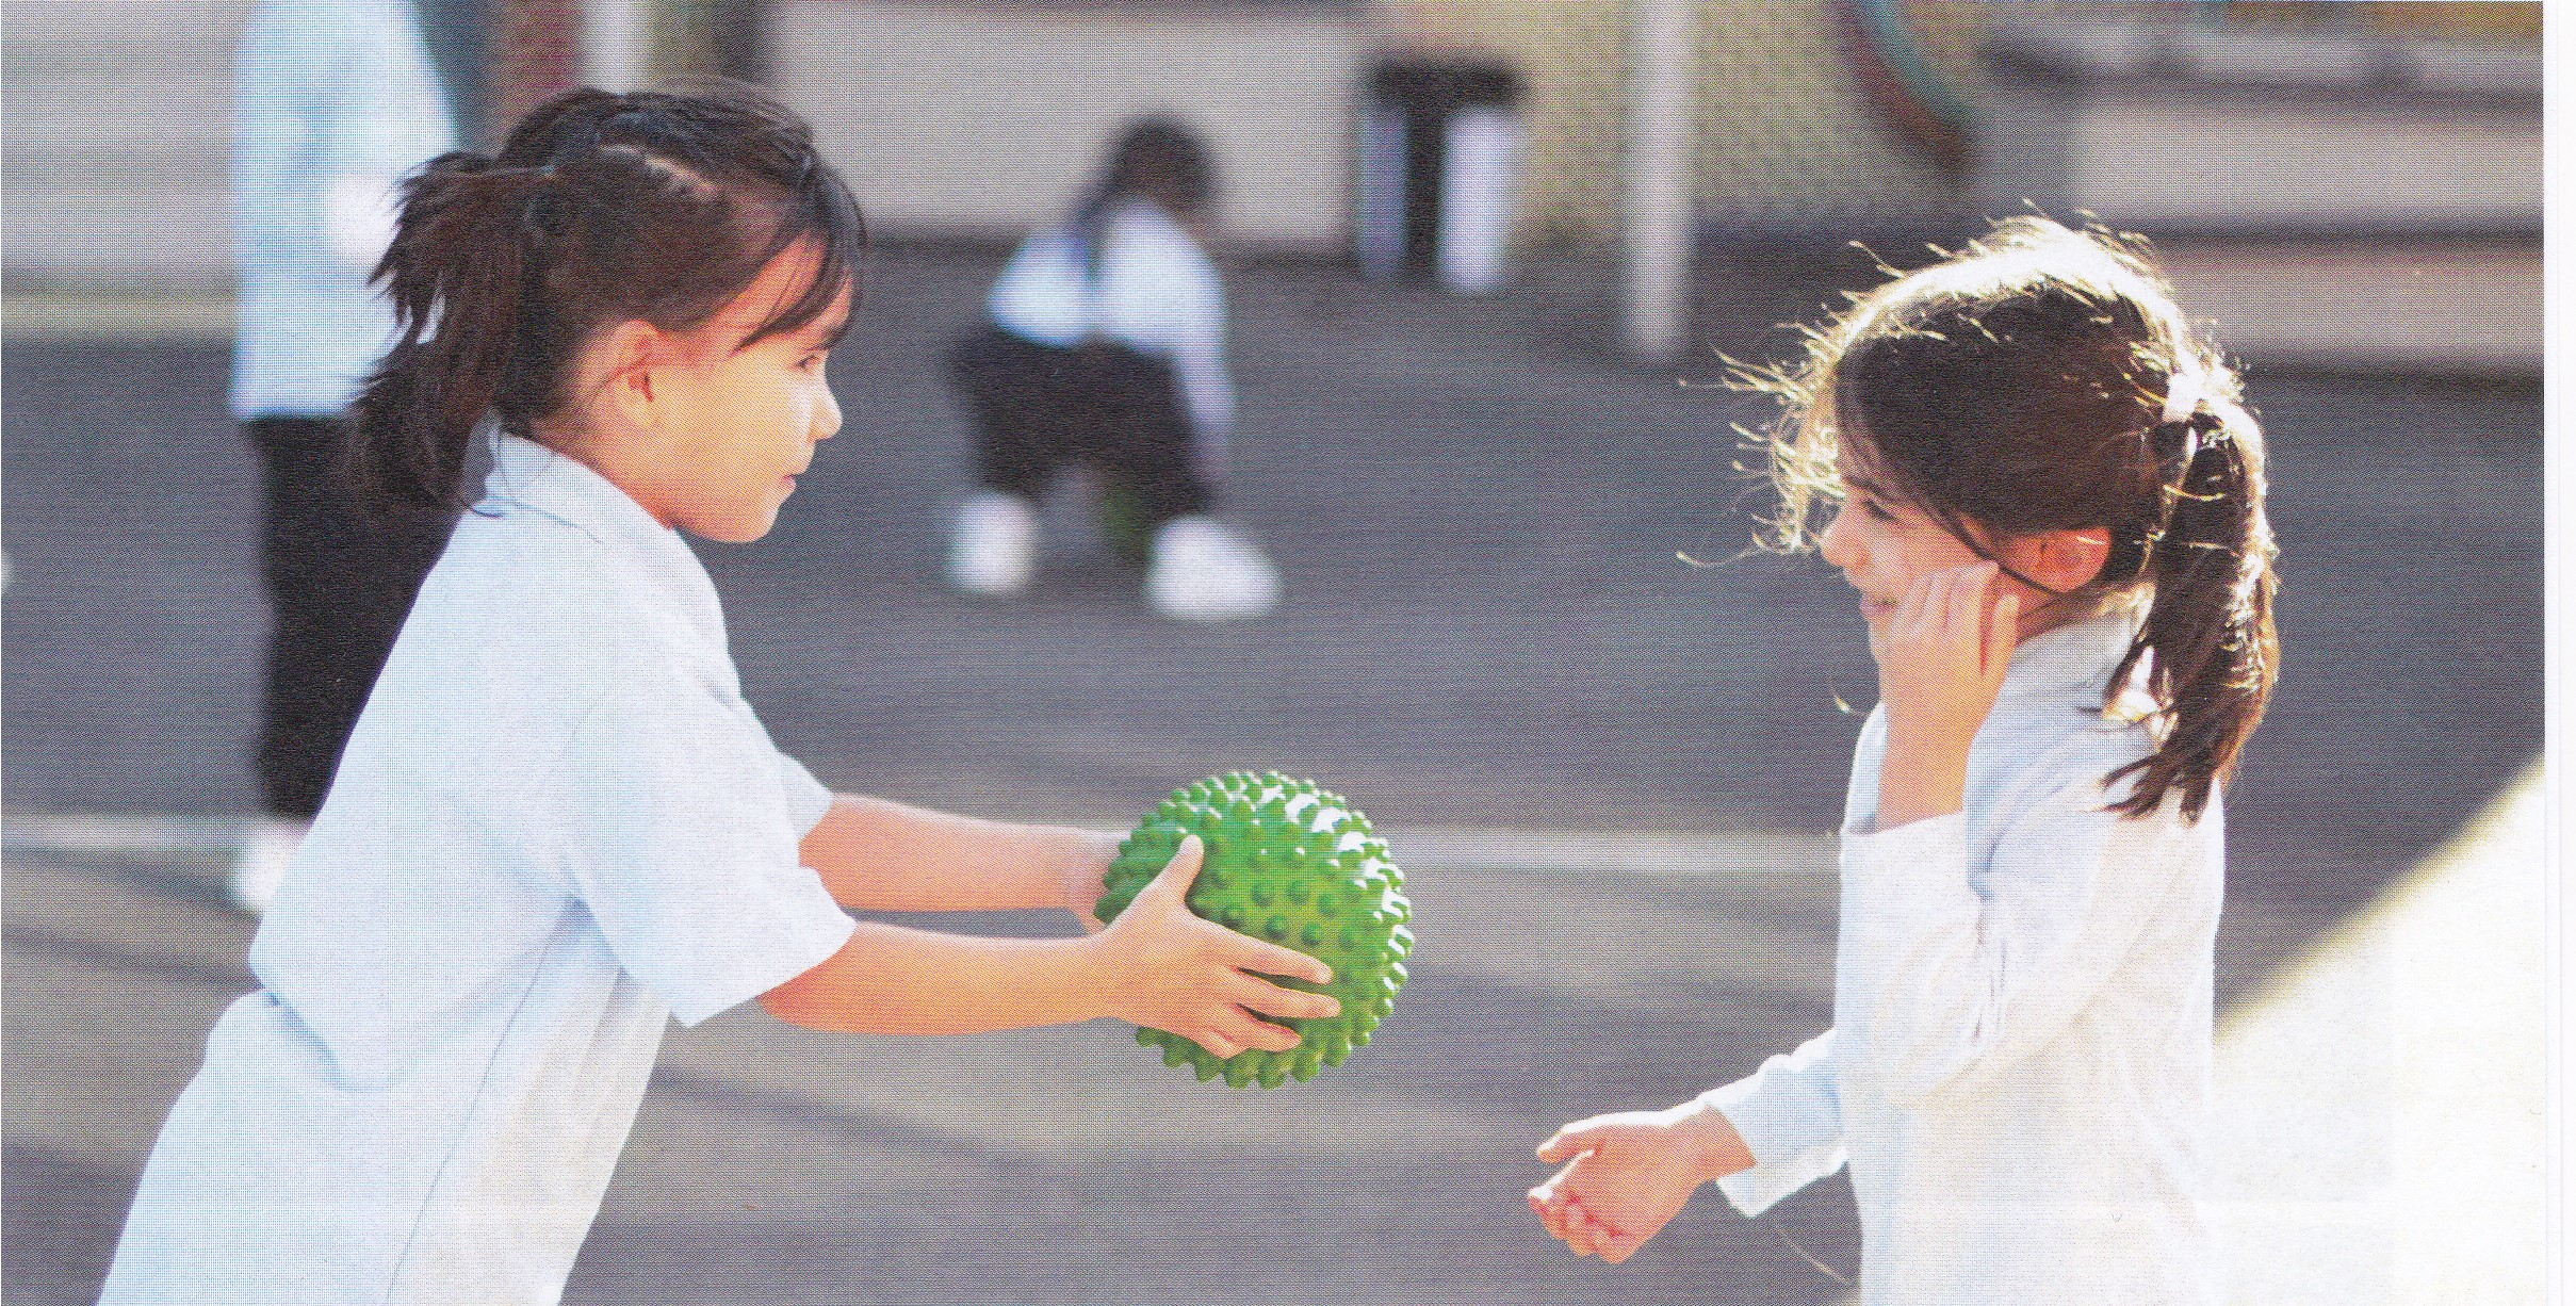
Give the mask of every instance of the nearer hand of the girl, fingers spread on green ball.
<svg viewBox="0 0 2576 1306">
<path fill-rule="evenodd" d="M 1213 1056 L 1291 1051 L 1298 1033 L 1255 1012 L 1314 1020 L 1340 1015 L 1342 1005 L 1332 994 L 1262 976 L 1329 984 L 1332 966 L 1190 914 L 1185 899 L 1200 858 L 1198 835 L 1180 840 L 1172 863 L 1097 935 L 1108 963 L 1108 1010 L 1136 1025 L 1172 1030 Z"/>
</svg>

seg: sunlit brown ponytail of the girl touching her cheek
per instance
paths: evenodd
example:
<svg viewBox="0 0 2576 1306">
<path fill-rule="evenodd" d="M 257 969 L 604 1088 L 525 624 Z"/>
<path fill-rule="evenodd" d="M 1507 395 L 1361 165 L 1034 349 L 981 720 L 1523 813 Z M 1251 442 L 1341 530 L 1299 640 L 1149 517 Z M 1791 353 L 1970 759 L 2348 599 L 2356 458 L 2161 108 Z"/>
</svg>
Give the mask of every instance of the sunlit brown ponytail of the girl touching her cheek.
<svg viewBox="0 0 2576 1306">
<path fill-rule="evenodd" d="M 2179 788 L 2184 819 L 2200 819 L 2210 788 L 2236 770 L 2280 675 L 2264 453 L 2251 415 L 2228 399 L 2159 422 L 2148 440 L 2179 469 L 2159 518 L 2120 541 L 2130 559 L 2123 572 L 2133 569 L 2151 587 L 2151 603 L 2110 677 L 2105 706 L 2143 665 L 2143 688 L 2164 729 L 2156 752 L 2112 770 L 2112 781 L 2138 775 L 2130 796 L 2112 806 L 2143 817 Z"/>
</svg>

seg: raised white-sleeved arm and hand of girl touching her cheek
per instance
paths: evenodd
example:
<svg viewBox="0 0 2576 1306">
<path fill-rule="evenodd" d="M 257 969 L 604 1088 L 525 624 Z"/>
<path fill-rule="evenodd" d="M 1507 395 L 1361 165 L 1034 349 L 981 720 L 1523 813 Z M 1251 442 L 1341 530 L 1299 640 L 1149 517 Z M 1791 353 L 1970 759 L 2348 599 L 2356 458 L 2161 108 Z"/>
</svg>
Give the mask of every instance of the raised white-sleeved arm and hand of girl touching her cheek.
<svg viewBox="0 0 2576 1306">
<path fill-rule="evenodd" d="M 1837 1030 L 1883 1074 L 1888 1097 L 1909 1105 L 2048 1046 L 2148 930 L 2190 909 L 2184 886 L 2218 884 L 2215 824 L 2184 824 L 2172 809 L 2107 811 L 2102 775 L 2117 760 L 2081 737 L 2025 762 L 2056 775 L 1994 817 L 2002 829 L 1984 886 L 1968 884 L 1968 742 L 2012 657 L 2014 603 L 1989 598 L 1991 582 L 1994 564 L 1940 572 L 1891 621 L 1878 822 L 1850 835 L 1842 855 L 1839 969 L 1860 1002 L 1837 1005 Z"/>
</svg>

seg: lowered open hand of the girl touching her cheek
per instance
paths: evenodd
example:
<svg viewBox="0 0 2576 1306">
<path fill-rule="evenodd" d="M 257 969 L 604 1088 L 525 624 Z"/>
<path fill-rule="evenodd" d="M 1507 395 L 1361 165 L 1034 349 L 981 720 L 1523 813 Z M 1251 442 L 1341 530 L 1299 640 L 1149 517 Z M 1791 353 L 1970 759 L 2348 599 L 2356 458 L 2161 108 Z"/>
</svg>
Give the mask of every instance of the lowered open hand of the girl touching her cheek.
<svg viewBox="0 0 2576 1306">
<path fill-rule="evenodd" d="M 1708 1180 L 1754 1164 L 1736 1126 L 1716 1108 L 1625 1110 L 1558 1128 L 1540 1162 L 1564 1162 L 1530 1190 L 1530 1211 L 1577 1257 L 1618 1265 L 1664 1231 Z"/>
</svg>

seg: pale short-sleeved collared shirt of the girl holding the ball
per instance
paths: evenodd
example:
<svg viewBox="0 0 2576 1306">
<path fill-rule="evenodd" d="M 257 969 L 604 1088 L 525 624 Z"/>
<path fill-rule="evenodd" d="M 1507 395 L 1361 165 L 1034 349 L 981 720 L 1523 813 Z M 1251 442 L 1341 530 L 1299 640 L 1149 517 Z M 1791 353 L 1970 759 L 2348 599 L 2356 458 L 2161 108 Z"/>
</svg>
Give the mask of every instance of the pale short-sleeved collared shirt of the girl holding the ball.
<svg viewBox="0 0 2576 1306">
<path fill-rule="evenodd" d="M 829 793 L 688 544 L 495 448 L 144 1169 L 108 1303 L 549 1303 L 662 1028 L 832 956 Z"/>
</svg>

